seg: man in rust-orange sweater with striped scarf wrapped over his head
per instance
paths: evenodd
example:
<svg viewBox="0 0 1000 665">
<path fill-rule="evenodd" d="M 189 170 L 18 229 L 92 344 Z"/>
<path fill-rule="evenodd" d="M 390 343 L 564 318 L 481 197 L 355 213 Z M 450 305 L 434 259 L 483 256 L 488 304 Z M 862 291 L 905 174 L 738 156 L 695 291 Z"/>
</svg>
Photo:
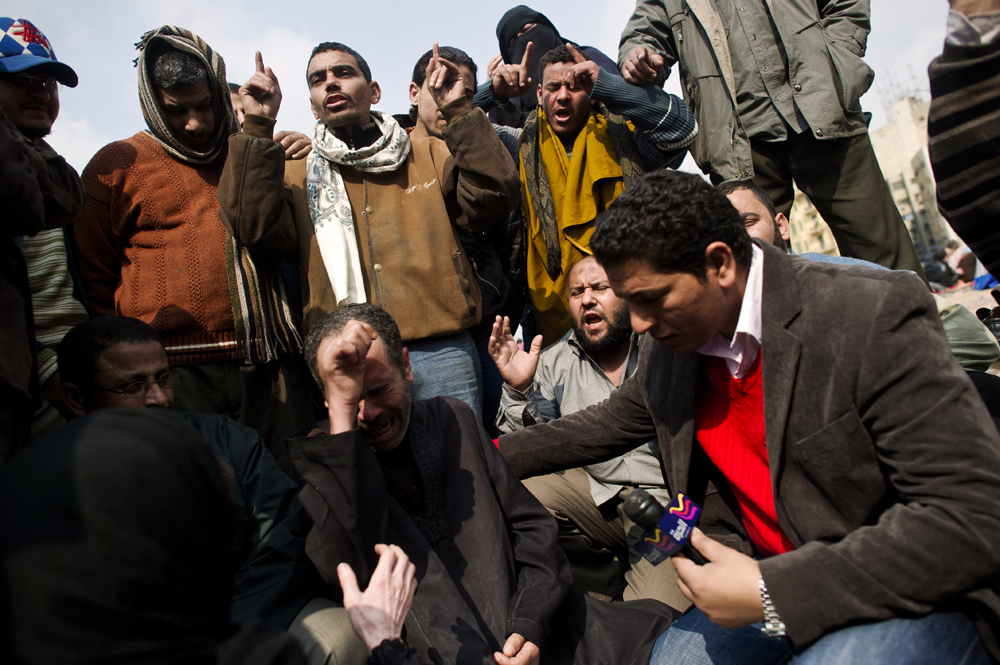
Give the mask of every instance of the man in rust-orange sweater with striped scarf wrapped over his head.
<svg viewBox="0 0 1000 665">
<path fill-rule="evenodd" d="M 307 426 L 313 409 L 278 262 L 249 252 L 219 220 L 216 190 L 239 132 L 225 63 L 174 26 L 146 33 L 138 48 L 149 129 L 105 146 L 83 172 L 73 244 L 87 299 L 98 315 L 131 316 L 162 336 L 181 378 L 178 408 L 258 430 L 290 471 L 273 444 Z"/>
</svg>

